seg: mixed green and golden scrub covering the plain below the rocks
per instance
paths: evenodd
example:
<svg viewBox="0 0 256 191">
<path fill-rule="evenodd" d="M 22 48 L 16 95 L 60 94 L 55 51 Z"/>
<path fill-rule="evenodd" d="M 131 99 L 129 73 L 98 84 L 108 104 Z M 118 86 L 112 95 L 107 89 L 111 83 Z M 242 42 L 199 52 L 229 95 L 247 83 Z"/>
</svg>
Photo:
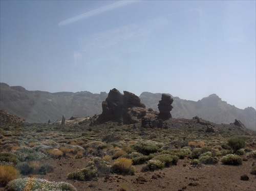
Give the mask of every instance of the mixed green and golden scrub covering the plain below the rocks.
<svg viewBox="0 0 256 191">
<path fill-rule="evenodd" d="M 94 127 L 26 124 L 1 127 L 1 132 L 0 184 L 9 190 L 76 190 L 68 182 L 37 178 L 54 173 L 48 159 L 88 160 L 83 169 L 66 175 L 79 181 L 133 176 L 136 165 L 142 165 L 142 173 L 161 171 L 184 159 L 191 168 L 256 161 L 255 136 L 229 129 L 206 133 L 204 127 L 144 129 L 110 122 Z M 248 174 L 256 175 L 255 163 Z"/>
</svg>

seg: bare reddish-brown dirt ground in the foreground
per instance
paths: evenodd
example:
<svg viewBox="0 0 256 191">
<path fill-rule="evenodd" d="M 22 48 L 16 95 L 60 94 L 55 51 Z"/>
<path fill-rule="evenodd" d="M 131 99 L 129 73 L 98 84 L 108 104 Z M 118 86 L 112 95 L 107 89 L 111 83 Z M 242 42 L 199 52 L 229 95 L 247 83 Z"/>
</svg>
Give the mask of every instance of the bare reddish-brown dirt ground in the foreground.
<svg viewBox="0 0 256 191">
<path fill-rule="evenodd" d="M 177 165 L 163 170 L 142 173 L 142 165 L 135 165 L 134 176 L 110 174 L 91 181 L 67 179 L 67 174 L 84 168 L 85 158 L 48 159 L 47 163 L 55 166 L 54 172 L 45 176 L 50 181 L 67 181 L 77 190 L 255 190 L 256 176 L 250 174 L 253 159 L 243 161 L 242 165 L 202 165 L 192 167 L 189 159 L 179 160 Z M 248 181 L 240 180 L 242 175 Z"/>
</svg>

